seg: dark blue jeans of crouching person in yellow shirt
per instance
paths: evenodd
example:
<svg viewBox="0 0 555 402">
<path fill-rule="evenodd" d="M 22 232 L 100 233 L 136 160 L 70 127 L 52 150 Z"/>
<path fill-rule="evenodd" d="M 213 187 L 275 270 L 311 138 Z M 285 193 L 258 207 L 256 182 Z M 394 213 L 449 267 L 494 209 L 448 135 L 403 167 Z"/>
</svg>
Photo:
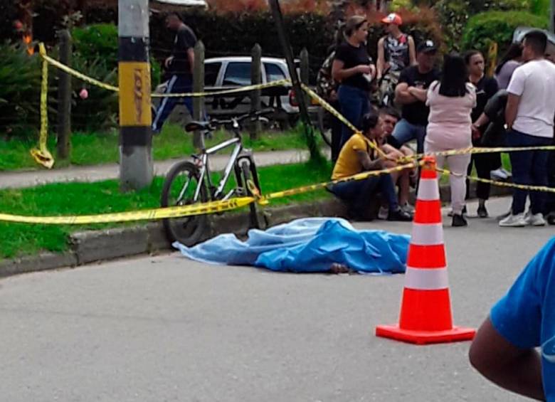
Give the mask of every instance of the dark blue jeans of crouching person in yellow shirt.
<svg viewBox="0 0 555 402">
<path fill-rule="evenodd" d="M 369 176 L 364 180 L 344 181 L 334 184 L 331 191 L 339 199 L 350 203 L 356 216 L 364 216 L 374 191 L 381 191 L 381 194 L 386 197 L 389 211 L 396 211 L 399 207 L 391 174 Z"/>
</svg>

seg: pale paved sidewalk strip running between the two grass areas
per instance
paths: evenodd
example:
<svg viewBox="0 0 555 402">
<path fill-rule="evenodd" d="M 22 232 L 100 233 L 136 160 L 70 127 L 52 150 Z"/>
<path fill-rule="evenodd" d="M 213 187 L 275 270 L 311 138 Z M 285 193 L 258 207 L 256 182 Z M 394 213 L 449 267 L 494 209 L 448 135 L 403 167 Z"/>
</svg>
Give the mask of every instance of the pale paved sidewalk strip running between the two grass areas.
<svg viewBox="0 0 555 402">
<path fill-rule="evenodd" d="M 308 152 L 300 150 L 256 152 L 255 162 L 258 166 L 273 164 L 292 164 L 302 162 L 309 157 Z M 228 162 L 228 155 L 215 155 L 211 159 L 211 169 L 223 169 Z M 170 166 L 181 159 L 171 159 L 154 163 L 154 174 L 166 174 Z M 0 189 L 21 189 L 38 184 L 58 183 L 63 181 L 102 181 L 117 179 L 120 176 L 119 164 L 97 166 L 73 166 L 67 169 L 2 171 L 0 172 Z"/>
</svg>

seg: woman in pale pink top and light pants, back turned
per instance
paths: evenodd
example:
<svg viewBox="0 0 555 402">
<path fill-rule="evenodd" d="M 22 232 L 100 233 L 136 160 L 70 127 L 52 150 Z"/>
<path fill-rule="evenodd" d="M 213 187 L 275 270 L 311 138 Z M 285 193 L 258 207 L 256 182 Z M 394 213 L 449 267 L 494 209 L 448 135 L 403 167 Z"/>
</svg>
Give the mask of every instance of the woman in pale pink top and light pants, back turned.
<svg viewBox="0 0 555 402">
<path fill-rule="evenodd" d="M 428 89 L 430 117 L 425 137 L 425 152 L 449 151 L 472 146 L 472 120 L 470 113 L 476 106 L 475 87 L 468 83 L 465 60 L 460 55 L 445 55 L 443 76 Z M 467 226 L 462 216 L 465 207 L 466 169 L 470 154 L 437 157 L 438 167 L 447 160 L 450 171 L 453 226 Z"/>
</svg>

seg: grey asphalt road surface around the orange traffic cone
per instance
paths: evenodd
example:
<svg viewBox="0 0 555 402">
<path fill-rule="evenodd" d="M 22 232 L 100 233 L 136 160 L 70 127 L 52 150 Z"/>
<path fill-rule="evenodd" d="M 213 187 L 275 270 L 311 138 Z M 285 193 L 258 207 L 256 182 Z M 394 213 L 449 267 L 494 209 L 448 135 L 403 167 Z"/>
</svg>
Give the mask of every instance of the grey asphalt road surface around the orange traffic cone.
<svg viewBox="0 0 555 402">
<path fill-rule="evenodd" d="M 470 225 L 445 238 L 455 323 L 477 326 L 555 231 Z M 277 274 L 176 254 L 11 277 L 0 282 L 0 399 L 522 400 L 472 371 L 468 343 L 374 337 L 396 322 L 402 287 L 402 275 Z"/>
</svg>

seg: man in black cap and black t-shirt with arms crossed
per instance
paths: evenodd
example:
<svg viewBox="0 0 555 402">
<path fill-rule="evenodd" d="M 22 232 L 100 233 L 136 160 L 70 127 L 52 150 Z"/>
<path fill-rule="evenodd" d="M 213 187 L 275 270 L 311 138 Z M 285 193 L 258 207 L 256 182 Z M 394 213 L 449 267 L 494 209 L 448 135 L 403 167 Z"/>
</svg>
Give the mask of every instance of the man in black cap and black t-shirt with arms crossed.
<svg viewBox="0 0 555 402">
<path fill-rule="evenodd" d="M 402 105 L 402 119 L 395 126 L 393 137 L 400 144 L 416 139 L 419 154 L 424 152 L 424 137 L 430 114 L 426 106 L 428 87 L 440 79 L 440 71 L 435 68 L 437 53 L 433 41 L 420 43 L 416 52 L 416 65 L 401 71 L 395 89 L 395 101 Z"/>
</svg>

